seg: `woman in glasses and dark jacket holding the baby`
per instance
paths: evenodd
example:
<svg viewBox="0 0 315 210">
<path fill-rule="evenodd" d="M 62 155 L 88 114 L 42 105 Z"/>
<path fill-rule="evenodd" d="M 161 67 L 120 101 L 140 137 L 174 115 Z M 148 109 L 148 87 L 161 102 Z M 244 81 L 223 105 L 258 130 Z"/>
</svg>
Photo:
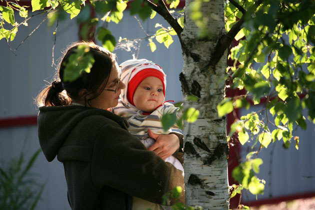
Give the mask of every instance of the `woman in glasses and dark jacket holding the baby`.
<svg viewBox="0 0 315 210">
<path fill-rule="evenodd" d="M 75 52 L 94 61 L 89 73 L 81 70 L 78 78 L 67 81 L 65 75 L 72 73 L 68 66 L 86 58 Z M 164 193 L 183 187 L 182 172 L 156 155 L 178 149 L 177 136 L 151 133 L 160 143 L 156 153 L 148 151 L 128 133 L 123 118 L 107 111 L 117 105 L 125 87 L 118 68 L 108 50 L 75 43 L 60 62 L 59 78 L 36 99 L 40 146 L 48 161 L 57 156 L 63 163 L 72 209 L 131 209 L 131 196 L 161 203 Z"/>
</svg>

